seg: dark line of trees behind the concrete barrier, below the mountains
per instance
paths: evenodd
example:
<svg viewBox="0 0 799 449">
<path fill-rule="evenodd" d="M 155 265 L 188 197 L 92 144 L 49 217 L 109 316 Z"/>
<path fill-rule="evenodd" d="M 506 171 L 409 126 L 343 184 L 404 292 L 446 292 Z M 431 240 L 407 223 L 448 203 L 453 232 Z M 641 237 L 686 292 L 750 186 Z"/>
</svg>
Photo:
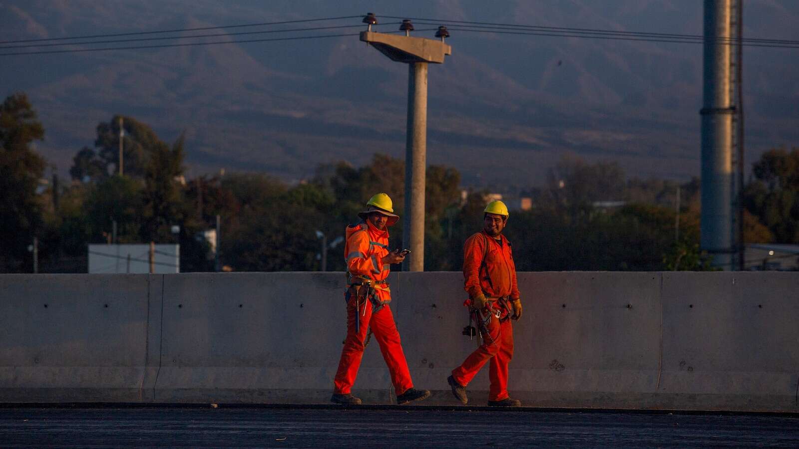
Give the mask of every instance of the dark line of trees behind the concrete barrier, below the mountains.
<svg viewBox="0 0 799 449">
<path fill-rule="evenodd" d="M 0 109 L 0 272 L 30 272 L 27 246 L 40 241 L 50 271 L 85 271 L 86 245 L 181 244 L 181 271 L 213 270 L 202 233 L 221 217 L 221 263 L 235 271 L 320 268 L 322 240 L 328 270 L 344 269 L 340 236 L 365 201 L 388 193 L 403 214 L 404 161 L 375 154 L 367 165 L 320 165 L 297 185 L 260 173 L 185 177 L 185 140 L 162 141 L 144 123 L 124 123 L 124 176 L 118 174 L 119 118 L 97 125 L 93 147 L 78 150 L 71 182 L 42 183 L 46 161 L 35 150 L 44 128 L 27 97 L 6 98 Z M 454 270 L 462 244 L 482 227 L 486 191 L 462 194 L 457 170 L 427 169 L 425 269 Z M 678 189 L 679 188 L 679 189 Z M 674 206 L 680 192 L 679 231 Z M 507 236 L 519 270 L 707 269 L 698 249 L 699 182 L 627 179 L 614 162 L 588 163 L 566 155 L 547 182 L 520 193 L 532 209 L 511 204 Z M 618 201 L 618 202 L 614 202 Z M 749 242 L 799 243 L 799 149 L 773 149 L 753 167 L 745 192 Z M 173 234 L 173 226 L 179 232 Z M 402 246 L 402 221 L 391 228 Z M 71 267 L 58 260 L 84 260 Z M 46 269 L 44 271 L 47 271 Z"/>
</svg>

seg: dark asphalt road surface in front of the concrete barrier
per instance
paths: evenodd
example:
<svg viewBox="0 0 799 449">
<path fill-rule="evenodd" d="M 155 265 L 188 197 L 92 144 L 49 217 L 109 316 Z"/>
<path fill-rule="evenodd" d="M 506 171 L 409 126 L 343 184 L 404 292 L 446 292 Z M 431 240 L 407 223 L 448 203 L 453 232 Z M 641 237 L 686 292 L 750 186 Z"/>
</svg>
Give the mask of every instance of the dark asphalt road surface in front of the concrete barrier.
<svg viewBox="0 0 799 449">
<path fill-rule="evenodd" d="M 799 447 L 799 415 L 447 407 L 6 407 L 0 447 Z"/>
</svg>

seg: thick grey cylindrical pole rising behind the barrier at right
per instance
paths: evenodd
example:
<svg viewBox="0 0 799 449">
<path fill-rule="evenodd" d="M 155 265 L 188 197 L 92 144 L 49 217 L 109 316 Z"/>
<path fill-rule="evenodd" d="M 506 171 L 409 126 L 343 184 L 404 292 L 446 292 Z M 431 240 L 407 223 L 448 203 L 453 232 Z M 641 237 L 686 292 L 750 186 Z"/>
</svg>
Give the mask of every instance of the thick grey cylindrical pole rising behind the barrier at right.
<svg viewBox="0 0 799 449">
<path fill-rule="evenodd" d="M 731 0 L 705 0 L 702 96 L 702 249 L 715 266 L 732 262 L 732 117 L 729 98 Z"/>
</svg>

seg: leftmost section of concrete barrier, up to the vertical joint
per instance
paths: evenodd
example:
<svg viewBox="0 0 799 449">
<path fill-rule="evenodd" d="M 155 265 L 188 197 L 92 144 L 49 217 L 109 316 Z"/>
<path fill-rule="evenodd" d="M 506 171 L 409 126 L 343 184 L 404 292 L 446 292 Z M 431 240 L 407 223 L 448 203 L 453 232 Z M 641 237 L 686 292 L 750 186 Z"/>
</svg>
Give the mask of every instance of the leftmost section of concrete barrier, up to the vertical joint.
<svg viewBox="0 0 799 449">
<path fill-rule="evenodd" d="M 0 276 L 0 400 L 152 401 L 160 278 Z"/>
</svg>

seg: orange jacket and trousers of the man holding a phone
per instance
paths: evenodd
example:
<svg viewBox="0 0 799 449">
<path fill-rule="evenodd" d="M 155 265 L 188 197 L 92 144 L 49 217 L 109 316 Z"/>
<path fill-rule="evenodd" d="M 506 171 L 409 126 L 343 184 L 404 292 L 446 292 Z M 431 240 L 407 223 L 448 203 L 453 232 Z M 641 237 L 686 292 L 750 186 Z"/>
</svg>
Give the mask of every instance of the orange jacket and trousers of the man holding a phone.
<svg viewBox="0 0 799 449">
<path fill-rule="evenodd" d="M 360 360 L 364 356 L 364 340 L 371 326 L 372 333 L 380 345 L 380 352 L 383 353 L 383 359 L 388 365 L 388 371 L 391 373 L 396 394 L 401 395 L 413 387 L 411 373 L 407 368 L 405 354 L 400 344 L 400 332 L 397 332 L 392 309 L 388 308 L 388 303 L 392 300 L 391 291 L 388 284 L 375 283 L 385 280 L 391 271 L 391 265 L 384 265 L 382 262 L 383 257 L 388 255 L 388 230 L 381 231 L 371 223 L 360 223 L 348 226 L 345 236 L 347 244 L 344 245 L 344 256 L 347 258 L 348 272 L 352 276 L 365 276 L 371 279 L 372 286 L 376 289 L 377 300 L 387 305 L 377 312 L 372 312 L 374 304 L 366 300 L 361 301 L 360 307 L 356 310 L 356 298 L 350 297 L 349 291 L 344 294 L 344 299 L 347 300 L 347 338 L 344 340 L 334 380 L 335 392 L 340 395 L 350 393 L 358 375 Z M 357 332 L 356 313 L 360 313 L 360 330 Z"/>
</svg>

